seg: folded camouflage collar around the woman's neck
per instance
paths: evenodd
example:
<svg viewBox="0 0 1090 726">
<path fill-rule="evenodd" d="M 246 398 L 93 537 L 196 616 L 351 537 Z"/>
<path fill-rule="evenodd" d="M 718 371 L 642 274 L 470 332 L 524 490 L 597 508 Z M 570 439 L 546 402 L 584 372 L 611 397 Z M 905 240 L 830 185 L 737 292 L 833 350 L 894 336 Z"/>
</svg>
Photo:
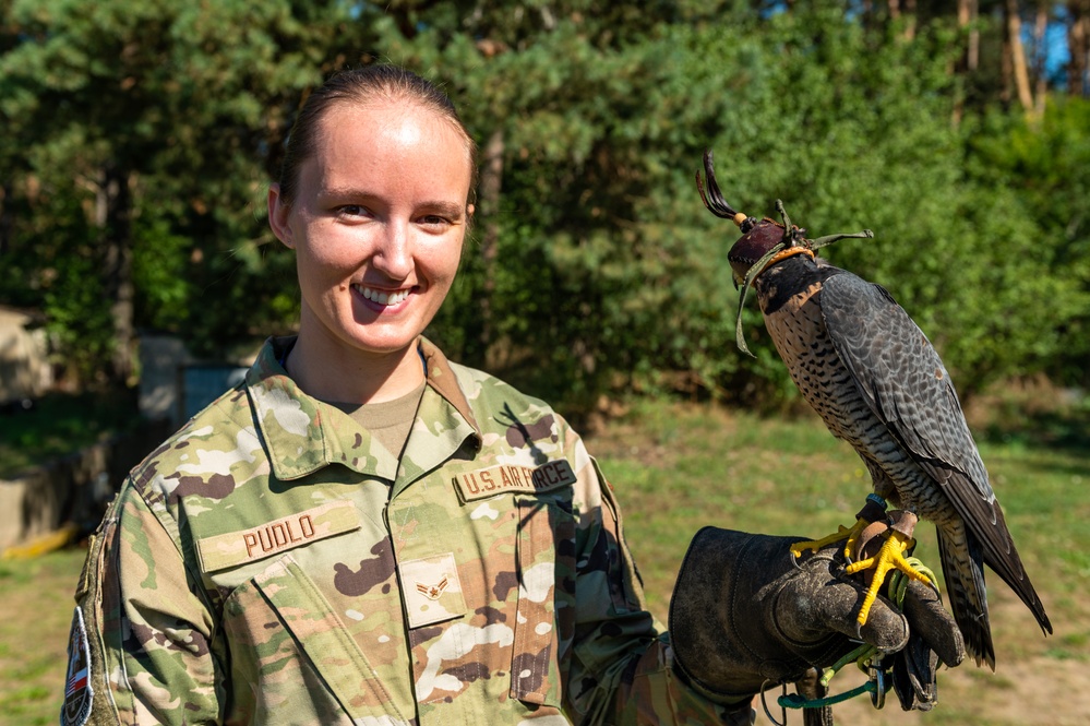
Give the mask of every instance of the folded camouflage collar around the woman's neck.
<svg viewBox="0 0 1090 726">
<path fill-rule="evenodd" d="M 273 475 L 300 479 L 340 464 L 390 481 L 415 479 L 448 459 L 468 440 L 480 449 L 481 431 L 446 356 L 420 337 L 426 386 L 400 461 L 345 413 L 303 393 L 280 360 L 295 336 L 269 338 L 247 372 L 247 395 Z M 408 481 L 404 481 L 407 486 Z"/>
</svg>

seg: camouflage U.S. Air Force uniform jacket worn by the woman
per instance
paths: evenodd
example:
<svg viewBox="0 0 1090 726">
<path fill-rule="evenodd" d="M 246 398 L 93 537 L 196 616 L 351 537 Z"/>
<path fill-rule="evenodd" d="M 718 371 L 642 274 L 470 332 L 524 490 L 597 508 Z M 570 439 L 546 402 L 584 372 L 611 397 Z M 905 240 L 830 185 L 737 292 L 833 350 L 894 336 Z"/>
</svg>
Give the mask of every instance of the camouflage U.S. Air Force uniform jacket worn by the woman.
<svg viewBox="0 0 1090 726">
<path fill-rule="evenodd" d="M 564 420 L 421 338 L 398 459 L 295 385 L 289 344 L 130 474 L 76 592 L 64 723 L 719 721 Z"/>
</svg>

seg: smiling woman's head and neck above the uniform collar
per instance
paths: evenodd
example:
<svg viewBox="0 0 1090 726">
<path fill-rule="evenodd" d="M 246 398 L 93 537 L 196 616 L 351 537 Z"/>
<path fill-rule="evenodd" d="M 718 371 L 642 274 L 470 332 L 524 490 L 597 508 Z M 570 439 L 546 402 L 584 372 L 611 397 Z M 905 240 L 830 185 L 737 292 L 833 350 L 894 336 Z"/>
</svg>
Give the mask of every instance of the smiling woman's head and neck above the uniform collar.
<svg viewBox="0 0 1090 726">
<path fill-rule="evenodd" d="M 423 383 L 414 343 L 451 288 L 474 212 L 474 146 L 453 108 L 384 73 L 320 96 L 268 192 L 302 289 L 286 368 L 325 401 L 381 403 Z"/>
</svg>

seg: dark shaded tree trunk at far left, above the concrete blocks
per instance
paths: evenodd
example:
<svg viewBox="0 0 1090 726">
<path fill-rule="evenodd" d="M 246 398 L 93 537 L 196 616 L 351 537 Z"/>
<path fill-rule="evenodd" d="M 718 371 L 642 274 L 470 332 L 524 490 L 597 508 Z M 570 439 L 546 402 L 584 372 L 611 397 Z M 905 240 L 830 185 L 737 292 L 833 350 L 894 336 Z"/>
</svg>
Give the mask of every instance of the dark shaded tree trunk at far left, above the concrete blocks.
<svg viewBox="0 0 1090 726">
<path fill-rule="evenodd" d="M 128 386 L 133 374 L 132 197 L 130 174 L 108 164 L 103 169 L 95 200 L 101 233 L 101 273 L 113 320 L 113 354 L 106 379 L 111 386 Z"/>
</svg>

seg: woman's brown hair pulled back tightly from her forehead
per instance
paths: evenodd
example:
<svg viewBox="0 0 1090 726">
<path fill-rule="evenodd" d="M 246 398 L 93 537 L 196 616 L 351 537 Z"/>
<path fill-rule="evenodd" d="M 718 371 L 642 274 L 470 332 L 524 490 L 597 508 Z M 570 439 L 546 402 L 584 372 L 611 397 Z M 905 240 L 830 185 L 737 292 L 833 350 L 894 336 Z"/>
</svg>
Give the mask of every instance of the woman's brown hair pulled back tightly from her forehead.
<svg viewBox="0 0 1090 726">
<path fill-rule="evenodd" d="M 299 167 L 314 154 L 314 134 L 326 110 L 337 103 L 366 105 L 376 99 L 416 102 L 421 107 L 435 111 L 457 129 L 466 143 L 471 175 L 469 194 L 472 198 L 477 187 L 477 144 L 450 97 L 431 81 L 412 71 L 397 66 L 379 64 L 336 73 L 303 103 L 288 135 L 280 166 L 280 199 L 286 204 L 290 205 L 295 201 Z"/>
</svg>

